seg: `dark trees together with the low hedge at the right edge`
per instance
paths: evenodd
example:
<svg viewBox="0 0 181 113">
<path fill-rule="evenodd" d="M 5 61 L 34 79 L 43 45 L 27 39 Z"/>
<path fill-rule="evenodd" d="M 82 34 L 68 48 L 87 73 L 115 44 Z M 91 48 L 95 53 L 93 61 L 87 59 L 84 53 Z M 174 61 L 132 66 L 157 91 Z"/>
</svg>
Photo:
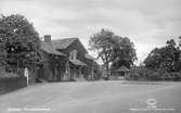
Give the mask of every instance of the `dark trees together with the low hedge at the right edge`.
<svg viewBox="0 0 181 113">
<path fill-rule="evenodd" d="M 181 80 L 181 37 L 177 43 L 173 39 L 161 48 L 155 48 L 144 60 L 145 65 L 131 68 L 131 79 Z"/>
</svg>

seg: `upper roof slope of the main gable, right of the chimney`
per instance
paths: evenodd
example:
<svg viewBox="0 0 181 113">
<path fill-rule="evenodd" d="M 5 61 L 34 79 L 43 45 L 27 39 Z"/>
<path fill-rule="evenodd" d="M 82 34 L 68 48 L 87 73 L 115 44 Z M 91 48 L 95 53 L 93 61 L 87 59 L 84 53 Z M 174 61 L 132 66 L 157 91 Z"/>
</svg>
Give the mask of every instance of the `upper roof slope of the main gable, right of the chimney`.
<svg viewBox="0 0 181 113">
<path fill-rule="evenodd" d="M 52 45 L 56 49 L 66 49 L 76 40 L 78 40 L 78 38 L 65 38 L 65 39 L 52 40 Z"/>
</svg>

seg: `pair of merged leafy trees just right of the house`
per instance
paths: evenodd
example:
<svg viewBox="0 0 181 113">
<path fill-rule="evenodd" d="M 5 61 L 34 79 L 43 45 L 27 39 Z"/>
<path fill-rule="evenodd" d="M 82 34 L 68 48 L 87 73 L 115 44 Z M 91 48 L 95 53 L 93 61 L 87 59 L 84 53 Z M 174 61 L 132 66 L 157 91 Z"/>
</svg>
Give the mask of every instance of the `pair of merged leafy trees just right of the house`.
<svg viewBox="0 0 181 113">
<path fill-rule="evenodd" d="M 137 60 L 133 42 L 129 38 L 117 36 L 111 30 L 102 29 L 94 34 L 90 37 L 89 45 L 90 50 L 95 51 L 98 59 L 101 58 L 103 61 L 107 78 L 111 75 L 111 64 L 113 70 L 121 65 L 130 67 Z"/>
</svg>

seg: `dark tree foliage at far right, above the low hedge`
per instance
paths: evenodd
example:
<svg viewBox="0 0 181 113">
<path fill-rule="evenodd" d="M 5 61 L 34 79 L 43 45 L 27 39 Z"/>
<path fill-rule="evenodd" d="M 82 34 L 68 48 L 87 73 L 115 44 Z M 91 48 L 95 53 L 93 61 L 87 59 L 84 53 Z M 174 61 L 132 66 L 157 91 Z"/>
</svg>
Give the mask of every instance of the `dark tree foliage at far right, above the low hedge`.
<svg viewBox="0 0 181 113">
<path fill-rule="evenodd" d="M 165 68 L 168 72 L 179 71 L 180 52 L 174 40 L 170 39 L 165 47 L 155 48 L 151 51 L 144 60 L 145 66 L 154 71 L 157 68 Z"/>
</svg>

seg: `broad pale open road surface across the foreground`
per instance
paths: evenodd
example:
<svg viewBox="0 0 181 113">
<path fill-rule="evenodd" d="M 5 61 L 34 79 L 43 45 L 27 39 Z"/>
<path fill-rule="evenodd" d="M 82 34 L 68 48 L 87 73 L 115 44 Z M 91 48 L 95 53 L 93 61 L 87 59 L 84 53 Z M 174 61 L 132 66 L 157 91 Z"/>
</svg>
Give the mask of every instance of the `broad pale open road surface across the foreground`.
<svg viewBox="0 0 181 113">
<path fill-rule="evenodd" d="M 147 99 L 156 100 L 158 111 L 147 110 Z M 181 83 L 33 85 L 0 96 L 0 113 L 181 113 Z"/>
</svg>

